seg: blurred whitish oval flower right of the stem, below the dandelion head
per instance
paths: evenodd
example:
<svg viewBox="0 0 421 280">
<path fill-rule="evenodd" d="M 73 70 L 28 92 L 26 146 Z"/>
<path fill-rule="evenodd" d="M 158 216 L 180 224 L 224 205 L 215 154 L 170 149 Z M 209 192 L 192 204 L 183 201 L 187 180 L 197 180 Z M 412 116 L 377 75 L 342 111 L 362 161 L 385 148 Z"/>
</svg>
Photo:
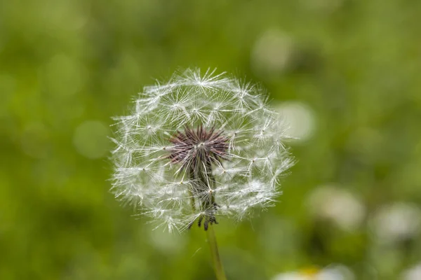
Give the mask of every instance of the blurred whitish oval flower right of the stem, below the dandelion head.
<svg viewBox="0 0 421 280">
<path fill-rule="evenodd" d="M 356 230 L 366 216 L 362 202 L 343 188 L 321 186 L 310 193 L 308 202 L 312 215 L 332 221 L 342 230 Z"/>
</svg>

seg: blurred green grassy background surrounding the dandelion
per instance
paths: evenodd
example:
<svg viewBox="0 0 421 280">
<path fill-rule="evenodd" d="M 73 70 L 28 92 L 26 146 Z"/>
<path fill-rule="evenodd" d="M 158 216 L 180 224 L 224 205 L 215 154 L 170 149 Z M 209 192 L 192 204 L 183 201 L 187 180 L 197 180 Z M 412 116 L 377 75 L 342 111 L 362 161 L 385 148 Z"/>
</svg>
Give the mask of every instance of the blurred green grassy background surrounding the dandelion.
<svg viewBox="0 0 421 280">
<path fill-rule="evenodd" d="M 215 228 L 229 279 L 334 264 L 421 279 L 420 15 L 417 0 L 1 1 L 0 279 L 214 279 L 203 230 L 152 231 L 109 193 L 111 117 L 189 66 L 262 83 L 300 137 L 276 207 Z"/>
</svg>

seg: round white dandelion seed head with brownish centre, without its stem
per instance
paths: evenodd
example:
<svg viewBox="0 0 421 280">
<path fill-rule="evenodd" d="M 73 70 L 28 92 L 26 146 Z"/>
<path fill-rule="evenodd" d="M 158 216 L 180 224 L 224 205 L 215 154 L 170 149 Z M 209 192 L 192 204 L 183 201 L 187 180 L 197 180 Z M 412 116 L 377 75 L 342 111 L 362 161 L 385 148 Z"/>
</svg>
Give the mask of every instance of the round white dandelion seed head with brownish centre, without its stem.
<svg viewBox="0 0 421 280">
<path fill-rule="evenodd" d="M 115 118 L 112 191 L 168 230 L 268 207 L 293 161 L 279 116 L 255 85 L 187 69 L 145 87 Z"/>
</svg>

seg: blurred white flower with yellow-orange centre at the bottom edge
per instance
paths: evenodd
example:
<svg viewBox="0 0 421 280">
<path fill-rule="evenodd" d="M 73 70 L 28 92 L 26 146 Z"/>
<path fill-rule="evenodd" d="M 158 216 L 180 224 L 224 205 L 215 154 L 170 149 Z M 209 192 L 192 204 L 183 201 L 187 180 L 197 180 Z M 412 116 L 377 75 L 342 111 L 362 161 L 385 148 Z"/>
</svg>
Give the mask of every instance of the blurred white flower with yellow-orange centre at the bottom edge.
<svg viewBox="0 0 421 280">
<path fill-rule="evenodd" d="M 323 269 L 277 274 L 272 280 L 354 280 L 354 273 L 345 265 L 329 265 Z"/>
</svg>

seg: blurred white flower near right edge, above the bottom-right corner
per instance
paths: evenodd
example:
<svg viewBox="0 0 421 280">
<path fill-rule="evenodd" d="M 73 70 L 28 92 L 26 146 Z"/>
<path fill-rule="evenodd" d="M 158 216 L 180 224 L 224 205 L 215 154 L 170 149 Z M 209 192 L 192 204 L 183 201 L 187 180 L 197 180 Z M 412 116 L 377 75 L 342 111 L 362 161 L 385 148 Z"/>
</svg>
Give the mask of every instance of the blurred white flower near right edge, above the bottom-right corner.
<svg viewBox="0 0 421 280">
<path fill-rule="evenodd" d="M 394 243 L 415 237 L 421 230 L 421 210 L 415 204 L 396 202 L 380 208 L 370 221 L 377 241 Z"/>
</svg>

